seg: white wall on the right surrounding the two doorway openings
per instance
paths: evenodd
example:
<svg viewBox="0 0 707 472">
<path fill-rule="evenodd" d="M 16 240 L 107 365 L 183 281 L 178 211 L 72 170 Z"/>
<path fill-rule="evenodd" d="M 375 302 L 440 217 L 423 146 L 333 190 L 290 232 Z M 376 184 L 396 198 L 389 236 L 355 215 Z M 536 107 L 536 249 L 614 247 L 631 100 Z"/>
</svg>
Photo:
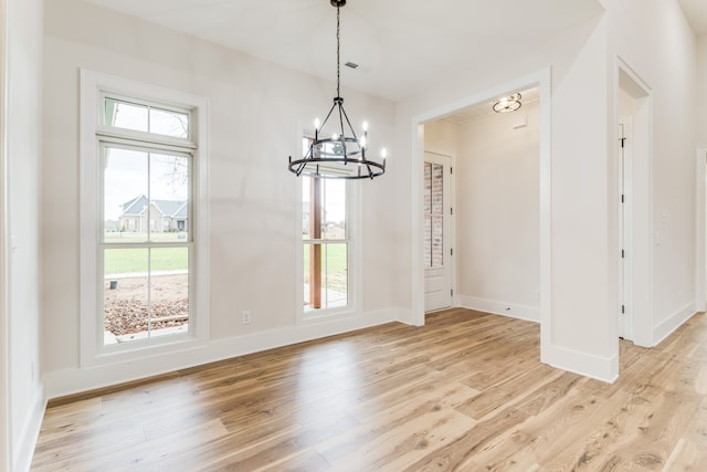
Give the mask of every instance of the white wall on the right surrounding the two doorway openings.
<svg viewBox="0 0 707 472">
<path fill-rule="evenodd" d="M 540 48 L 517 51 L 497 63 L 469 64 L 468 74 L 441 80 L 437 87 L 399 103 L 397 145 L 414 161 L 416 119 L 551 67 L 551 178 L 542 189 L 551 198 L 540 209 L 549 212 L 551 248 L 549 286 L 544 287 L 549 300 L 541 301 L 542 358 L 613 380 L 619 374 L 615 57 L 634 67 L 654 96 L 653 229 L 661 224 L 662 240 L 652 248 L 650 323 L 657 342 L 694 308 L 696 107 L 690 96 L 696 90 L 696 45 L 674 0 L 601 4 L 605 11 L 600 18 Z M 408 197 L 415 185 L 412 172 L 409 178 L 398 204 L 409 214 L 400 221 L 401 232 L 414 233 L 419 208 Z M 399 260 L 411 274 L 412 292 L 403 298 L 416 311 L 420 304 L 412 301 L 421 272 L 415 265 L 418 248 L 408 239 L 400 249 Z"/>
</svg>

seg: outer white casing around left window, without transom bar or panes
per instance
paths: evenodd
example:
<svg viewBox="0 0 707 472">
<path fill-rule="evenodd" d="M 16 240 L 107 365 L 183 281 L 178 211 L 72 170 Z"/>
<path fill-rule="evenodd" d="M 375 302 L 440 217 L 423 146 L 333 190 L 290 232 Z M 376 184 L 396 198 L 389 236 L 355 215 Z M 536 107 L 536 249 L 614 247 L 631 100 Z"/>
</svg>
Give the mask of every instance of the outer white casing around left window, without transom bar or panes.
<svg viewBox="0 0 707 472">
<path fill-rule="evenodd" d="M 191 139 L 198 143 L 193 154 L 194 172 L 192 180 L 193 198 L 193 314 L 190 313 L 192 334 L 183 336 L 163 336 L 149 344 L 126 344 L 122 350 L 105 349 L 103 328 L 96 313 L 98 304 L 98 243 L 101 224 L 98 208 L 101 195 L 101 166 L 98 156 L 98 135 L 102 126 L 99 114 L 104 92 L 123 94 L 146 101 L 156 101 L 181 108 L 193 108 L 193 132 Z M 200 96 L 175 92 L 154 85 L 118 77 L 99 72 L 81 71 L 81 126 L 80 126 L 80 208 L 81 208 L 81 367 L 91 367 L 120 361 L 131 361 L 180 352 L 207 344 L 209 336 L 209 148 L 208 148 L 208 99 Z M 192 317 L 193 315 L 193 317 Z"/>
</svg>

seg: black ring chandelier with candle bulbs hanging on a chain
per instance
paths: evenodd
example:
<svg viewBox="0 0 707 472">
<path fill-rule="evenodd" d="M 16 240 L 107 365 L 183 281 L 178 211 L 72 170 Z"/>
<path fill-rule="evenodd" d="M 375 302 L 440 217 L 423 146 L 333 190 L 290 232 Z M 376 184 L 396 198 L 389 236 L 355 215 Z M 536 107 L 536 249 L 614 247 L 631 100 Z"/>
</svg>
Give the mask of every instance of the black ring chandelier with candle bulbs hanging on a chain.
<svg viewBox="0 0 707 472">
<path fill-rule="evenodd" d="M 386 172 L 386 149 L 380 159 L 370 159 L 368 153 L 368 125 L 359 137 L 346 111 L 340 93 L 340 9 L 346 0 L 330 0 L 336 7 L 336 97 L 323 123 L 315 120 L 314 139 L 302 159 L 292 160 L 289 171 L 296 176 L 333 179 L 373 179 Z M 329 118 L 333 118 L 329 120 Z M 328 125 L 328 126 L 327 126 Z"/>
</svg>

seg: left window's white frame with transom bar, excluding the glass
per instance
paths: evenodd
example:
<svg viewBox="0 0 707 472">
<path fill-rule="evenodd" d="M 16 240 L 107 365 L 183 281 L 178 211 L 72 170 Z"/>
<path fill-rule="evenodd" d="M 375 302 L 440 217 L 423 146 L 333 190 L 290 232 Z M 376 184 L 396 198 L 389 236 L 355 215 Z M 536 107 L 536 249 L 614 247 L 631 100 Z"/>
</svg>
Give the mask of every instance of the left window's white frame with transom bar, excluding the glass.
<svg viewBox="0 0 707 472">
<path fill-rule="evenodd" d="M 188 139 L 133 129 L 115 128 L 104 123 L 105 98 L 139 101 L 160 109 L 189 111 Z M 137 360 L 202 346 L 208 342 L 209 212 L 208 212 L 208 101 L 196 95 L 131 81 L 89 70 L 81 70 L 80 125 L 80 209 L 81 209 L 81 367 Z M 117 129 L 117 130 L 116 130 Z M 101 147 L 104 144 L 135 146 L 191 154 L 190 204 L 190 313 L 189 332 L 183 335 L 156 336 L 119 345 L 105 345 L 103 322 L 103 178 Z M 192 300 L 193 298 L 193 300 Z"/>
</svg>

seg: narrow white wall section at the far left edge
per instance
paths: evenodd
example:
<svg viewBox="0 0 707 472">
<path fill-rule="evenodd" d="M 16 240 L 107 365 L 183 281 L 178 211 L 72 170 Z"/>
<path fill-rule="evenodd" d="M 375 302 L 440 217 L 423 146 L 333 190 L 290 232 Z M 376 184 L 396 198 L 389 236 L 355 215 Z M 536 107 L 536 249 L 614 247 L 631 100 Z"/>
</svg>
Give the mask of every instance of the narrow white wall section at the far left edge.
<svg viewBox="0 0 707 472">
<path fill-rule="evenodd" d="M 12 470 L 29 469 L 44 408 L 40 381 L 40 155 L 42 148 L 42 1 L 7 0 L 3 238 L 9 280 L 7 354 Z M 7 213 L 6 213 L 7 212 Z"/>
</svg>

